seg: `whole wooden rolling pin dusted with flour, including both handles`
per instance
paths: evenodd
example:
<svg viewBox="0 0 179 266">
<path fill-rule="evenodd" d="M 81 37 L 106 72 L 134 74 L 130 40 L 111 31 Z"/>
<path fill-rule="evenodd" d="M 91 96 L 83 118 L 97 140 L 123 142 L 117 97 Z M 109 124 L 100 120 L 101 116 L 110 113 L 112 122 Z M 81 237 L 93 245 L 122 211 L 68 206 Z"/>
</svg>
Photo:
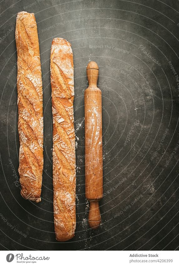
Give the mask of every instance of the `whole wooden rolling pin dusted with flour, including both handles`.
<svg viewBox="0 0 179 266">
<path fill-rule="evenodd" d="M 89 62 L 85 90 L 85 192 L 90 201 L 89 226 L 97 229 L 101 223 L 98 201 L 103 197 L 102 98 L 97 88 L 98 65 Z"/>
</svg>

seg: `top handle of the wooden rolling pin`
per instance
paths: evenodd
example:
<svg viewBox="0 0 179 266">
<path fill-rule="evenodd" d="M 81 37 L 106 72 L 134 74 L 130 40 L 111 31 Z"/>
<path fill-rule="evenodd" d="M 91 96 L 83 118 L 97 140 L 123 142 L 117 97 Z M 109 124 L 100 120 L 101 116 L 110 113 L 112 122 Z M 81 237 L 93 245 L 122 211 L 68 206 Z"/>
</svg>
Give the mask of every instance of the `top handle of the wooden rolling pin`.
<svg viewBox="0 0 179 266">
<path fill-rule="evenodd" d="M 87 65 L 87 78 L 90 88 L 97 88 L 99 67 L 96 62 L 90 61 Z"/>
</svg>

